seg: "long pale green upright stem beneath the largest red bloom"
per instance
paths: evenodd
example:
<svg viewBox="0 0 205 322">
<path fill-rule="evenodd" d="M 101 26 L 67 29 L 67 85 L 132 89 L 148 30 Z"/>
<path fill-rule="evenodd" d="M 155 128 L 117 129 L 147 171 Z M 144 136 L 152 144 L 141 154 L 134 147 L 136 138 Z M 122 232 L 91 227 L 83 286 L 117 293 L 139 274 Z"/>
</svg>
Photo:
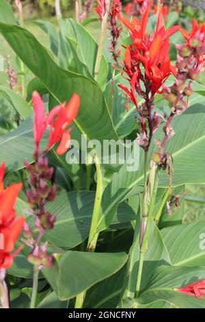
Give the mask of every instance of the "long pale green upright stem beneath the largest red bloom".
<svg viewBox="0 0 205 322">
<path fill-rule="evenodd" d="M 143 260 L 145 258 L 147 247 L 148 247 L 148 237 L 150 234 L 150 227 L 152 225 L 152 218 L 153 218 L 153 212 L 154 212 L 154 204 L 156 201 L 158 182 L 159 182 L 159 174 L 158 174 L 157 165 L 154 162 L 151 162 L 150 175 L 149 175 L 149 181 L 148 181 L 149 189 L 146 194 L 146 208 L 148 209 L 148 216 L 146 216 L 145 218 L 142 218 L 142 221 L 144 221 L 143 223 L 144 225 L 146 225 L 146 227 L 145 227 L 145 232 L 143 234 L 143 238 L 141 240 L 139 268 L 137 273 L 137 285 L 136 285 L 136 292 L 135 292 L 136 297 L 138 297 L 139 295 L 140 286 L 141 286 Z"/>
</svg>

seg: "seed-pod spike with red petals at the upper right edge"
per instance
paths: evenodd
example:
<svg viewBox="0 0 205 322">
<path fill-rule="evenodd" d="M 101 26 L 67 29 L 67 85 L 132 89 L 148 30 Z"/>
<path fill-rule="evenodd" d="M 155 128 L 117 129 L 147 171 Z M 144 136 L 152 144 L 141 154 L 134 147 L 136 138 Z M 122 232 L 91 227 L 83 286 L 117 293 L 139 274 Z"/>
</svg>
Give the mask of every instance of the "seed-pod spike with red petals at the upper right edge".
<svg viewBox="0 0 205 322">
<path fill-rule="evenodd" d="M 205 22 L 198 25 L 193 19 L 193 26 L 190 34 L 184 29 L 180 29 L 186 42 L 184 45 L 176 45 L 178 58 L 176 62 L 176 79 L 172 86 L 163 85 L 163 96 L 169 101 L 171 113 L 169 117 L 164 116 L 165 137 L 161 143 L 161 153 L 167 141 L 174 135 L 171 122 L 176 114 L 182 114 L 189 106 L 189 97 L 192 94 L 192 81 L 196 80 L 200 71 L 205 65 Z M 189 82 L 187 84 L 187 82 Z"/>
</svg>

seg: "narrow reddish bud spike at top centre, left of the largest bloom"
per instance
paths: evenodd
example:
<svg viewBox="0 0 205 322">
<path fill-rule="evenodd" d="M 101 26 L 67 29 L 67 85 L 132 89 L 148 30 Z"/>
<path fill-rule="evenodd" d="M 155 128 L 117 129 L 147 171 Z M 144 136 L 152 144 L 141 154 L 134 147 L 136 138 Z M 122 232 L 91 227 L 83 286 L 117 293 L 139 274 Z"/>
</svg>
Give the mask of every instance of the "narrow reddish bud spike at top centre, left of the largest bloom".
<svg viewBox="0 0 205 322">
<path fill-rule="evenodd" d="M 120 0 L 113 0 L 112 8 L 109 13 L 109 29 L 111 34 L 111 46 L 109 51 L 111 52 L 116 64 L 119 65 L 120 49 L 117 50 L 118 39 L 122 32 L 122 27 L 118 27 L 117 18 L 120 18 L 120 12 L 122 11 L 122 3 Z"/>
</svg>

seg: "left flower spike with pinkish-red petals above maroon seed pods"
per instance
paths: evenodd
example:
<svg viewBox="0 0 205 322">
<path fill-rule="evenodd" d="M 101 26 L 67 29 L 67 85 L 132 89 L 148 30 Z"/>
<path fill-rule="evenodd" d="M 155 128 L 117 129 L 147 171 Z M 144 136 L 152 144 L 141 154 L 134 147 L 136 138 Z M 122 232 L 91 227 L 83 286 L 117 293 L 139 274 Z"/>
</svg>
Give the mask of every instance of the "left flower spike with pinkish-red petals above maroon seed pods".
<svg viewBox="0 0 205 322">
<path fill-rule="evenodd" d="M 51 230 L 55 223 L 55 216 L 46 210 L 46 203 L 53 201 L 56 193 L 55 185 L 51 184 L 53 168 L 49 168 L 49 161 L 45 154 L 58 142 L 60 143 L 56 149 L 57 154 L 67 151 L 70 140 L 70 129 L 67 129 L 67 127 L 77 116 L 79 105 L 79 96 L 74 94 L 66 107 L 61 104 L 53 108 L 49 114 L 44 114 L 44 103 L 38 92 L 33 92 L 33 108 L 35 112 L 33 124 L 35 140 L 34 163 L 29 164 L 29 162 L 25 161 L 25 166 L 30 175 L 29 185 L 31 187 L 31 189 L 27 190 L 27 199 L 31 214 L 35 218 L 38 236 L 35 240 L 33 232 L 25 224 L 23 241 L 31 248 L 28 256 L 29 262 L 38 267 L 38 269 L 41 269 L 41 267 L 49 268 L 53 261 L 53 256 L 49 256 L 46 253 L 46 243 L 42 246 L 40 245 L 42 236 L 48 230 Z M 48 126 L 50 126 L 49 143 L 44 151 L 40 151 L 40 141 Z"/>
</svg>

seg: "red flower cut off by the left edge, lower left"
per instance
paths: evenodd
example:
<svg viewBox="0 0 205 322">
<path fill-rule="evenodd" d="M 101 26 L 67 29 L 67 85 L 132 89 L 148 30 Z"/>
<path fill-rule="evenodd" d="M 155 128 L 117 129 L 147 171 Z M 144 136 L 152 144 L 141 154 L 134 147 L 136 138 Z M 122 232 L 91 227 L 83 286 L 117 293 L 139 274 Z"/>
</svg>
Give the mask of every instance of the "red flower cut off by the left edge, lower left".
<svg viewBox="0 0 205 322">
<path fill-rule="evenodd" d="M 3 249 L 0 249 L 0 269 L 8 269 L 12 266 L 14 256 L 20 251 L 21 247 L 14 253 L 16 240 L 23 229 L 25 219 L 22 216 L 16 217 L 14 206 L 16 198 L 22 184 L 12 184 L 4 189 L 3 177 L 5 163 L 0 167 L 0 234 L 3 236 Z M 16 217 L 16 218 L 15 218 Z"/>
</svg>

